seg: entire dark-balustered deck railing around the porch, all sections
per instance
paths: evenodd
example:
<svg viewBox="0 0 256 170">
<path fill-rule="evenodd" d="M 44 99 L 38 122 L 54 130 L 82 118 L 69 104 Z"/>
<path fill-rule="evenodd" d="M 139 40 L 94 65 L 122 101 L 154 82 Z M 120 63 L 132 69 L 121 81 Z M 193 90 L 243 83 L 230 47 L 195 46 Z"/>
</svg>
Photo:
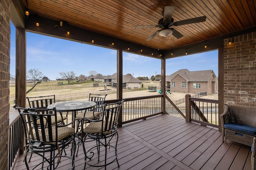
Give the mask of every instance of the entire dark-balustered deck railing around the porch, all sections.
<svg viewBox="0 0 256 170">
<path fill-rule="evenodd" d="M 218 127 L 218 100 L 208 100 L 201 98 L 190 98 L 186 95 L 186 109 L 179 109 L 166 96 L 164 99 L 165 108 L 162 109 L 162 94 L 154 96 L 143 96 L 136 98 L 126 98 L 122 106 L 122 121 L 120 125 L 133 121 L 146 119 L 163 113 L 185 118 L 186 121 L 195 121 L 202 125 Z M 106 100 L 106 103 L 117 102 L 118 100 Z M 187 106 L 188 105 L 188 106 Z M 187 109 L 188 108 L 188 109 Z M 184 115 L 186 113 L 186 116 Z M 18 110 L 14 110 L 9 115 L 9 169 L 15 164 L 15 157 L 19 152 L 20 122 Z"/>
</svg>

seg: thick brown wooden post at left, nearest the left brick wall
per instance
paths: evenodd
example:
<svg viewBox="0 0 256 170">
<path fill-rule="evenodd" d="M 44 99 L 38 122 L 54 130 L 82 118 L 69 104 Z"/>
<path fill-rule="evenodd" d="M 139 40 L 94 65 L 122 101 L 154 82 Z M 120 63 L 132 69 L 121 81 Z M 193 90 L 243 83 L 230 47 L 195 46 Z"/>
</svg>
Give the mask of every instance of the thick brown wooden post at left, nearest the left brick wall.
<svg viewBox="0 0 256 170">
<path fill-rule="evenodd" d="M 16 27 L 16 89 L 15 104 L 26 107 L 26 30 Z M 20 121 L 19 144 L 20 154 L 24 151 L 24 129 Z"/>
</svg>

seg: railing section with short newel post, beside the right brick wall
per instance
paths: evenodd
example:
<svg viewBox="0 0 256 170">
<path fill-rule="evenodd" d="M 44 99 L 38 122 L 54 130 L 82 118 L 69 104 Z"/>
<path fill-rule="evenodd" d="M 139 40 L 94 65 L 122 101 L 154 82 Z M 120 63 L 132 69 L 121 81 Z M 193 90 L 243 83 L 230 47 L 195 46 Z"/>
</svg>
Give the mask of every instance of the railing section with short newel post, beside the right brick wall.
<svg viewBox="0 0 256 170">
<path fill-rule="evenodd" d="M 186 121 L 218 127 L 218 100 L 191 98 L 186 95 Z"/>
</svg>

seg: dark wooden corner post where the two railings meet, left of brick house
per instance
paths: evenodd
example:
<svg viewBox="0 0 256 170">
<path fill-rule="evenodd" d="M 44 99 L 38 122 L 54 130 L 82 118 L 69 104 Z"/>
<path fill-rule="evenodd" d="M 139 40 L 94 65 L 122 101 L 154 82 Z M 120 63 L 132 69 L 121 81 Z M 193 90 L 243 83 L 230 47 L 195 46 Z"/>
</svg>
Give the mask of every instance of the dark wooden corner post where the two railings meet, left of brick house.
<svg viewBox="0 0 256 170">
<path fill-rule="evenodd" d="M 166 114 L 166 110 L 165 110 L 165 98 L 166 98 L 166 94 L 165 94 L 165 71 L 166 71 L 166 59 L 162 58 L 161 59 L 161 94 L 163 94 L 162 97 L 162 102 L 161 102 L 161 111 L 163 112 L 163 114 Z"/>
</svg>

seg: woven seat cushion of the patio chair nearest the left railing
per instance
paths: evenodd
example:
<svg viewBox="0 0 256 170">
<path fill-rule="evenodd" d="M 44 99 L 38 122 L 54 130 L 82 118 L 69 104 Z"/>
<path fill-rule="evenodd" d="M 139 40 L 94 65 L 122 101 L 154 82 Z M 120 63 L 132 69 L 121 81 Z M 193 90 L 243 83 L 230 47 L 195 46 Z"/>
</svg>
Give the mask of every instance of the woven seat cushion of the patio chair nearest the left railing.
<svg viewBox="0 0 256 170">
<path fill-rule="evenodd" d="M 47 129 L 47 128 L 46 128 Z M 75 129 L 72 127 L 58 127 L 58 142 L 61 141 L 62 139 L 68 137 L 69 135 L 75 133 Z M 55 141 L 56 140 L 56 136 L 55 136 L 56 132 L 55 132 L 55 128 L 52 128 L 52 140 Z M 36 138 L 36 133 L 33 133 L 34 138 Z M 45 136 L 46 136 L 46 141 L 49 141 L 49 133 L 48 133 L 48 129 L 45 130 Z M 31 137 L 32 138 L 32 137 Z M 42 131 L 39 131 L 39 138 L 40 141 L 43 141 L 42 139 Z M 33 138 L 32 138 L 33 139 Z M 37 140 L 38 141 L 38 140 Z M 47 143 L 47 144 L 54 144 L 55 143 Z"/>
</svg>

